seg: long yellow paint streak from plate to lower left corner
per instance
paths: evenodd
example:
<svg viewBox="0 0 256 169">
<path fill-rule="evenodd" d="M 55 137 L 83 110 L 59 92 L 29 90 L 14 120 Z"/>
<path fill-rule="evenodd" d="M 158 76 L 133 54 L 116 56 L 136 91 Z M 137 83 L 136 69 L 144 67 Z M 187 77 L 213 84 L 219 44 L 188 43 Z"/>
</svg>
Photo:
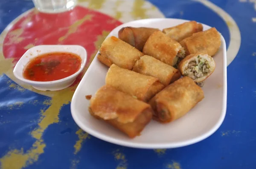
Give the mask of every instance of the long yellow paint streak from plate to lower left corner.
<svg viewBox="0 0 256 169">
<path fill-rule="evenodd" d="M 23 152 L 23 149 L 10 150 L 0 159 L 1 169 L 22 169 L 38 160 L 39 155 L 44 153 L 44 148 L 46 146 L 42 138 L 44 131 L 49 125 L 58 123 L 59 111 L 64 104 L 70 103 L 74 93 L 72 89 L 75 89 L 76 87 L 77 86 L 74 86 L 55 92 L 50 104 L 49 101 L 44 102 L 49 107 L 47 110 L 41 110 L 41 118 L 38 123 L 38 128 L 31 132 L 32 137 L 36 139 L 35 143 L 27 152 Z"/>
</svg>

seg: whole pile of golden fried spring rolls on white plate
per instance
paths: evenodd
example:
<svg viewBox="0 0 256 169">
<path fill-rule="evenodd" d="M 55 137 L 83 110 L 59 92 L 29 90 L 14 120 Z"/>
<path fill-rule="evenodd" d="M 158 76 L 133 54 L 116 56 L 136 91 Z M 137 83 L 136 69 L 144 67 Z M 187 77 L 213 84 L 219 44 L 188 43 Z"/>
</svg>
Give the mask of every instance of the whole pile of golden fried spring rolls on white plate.
<svg viewBox="0 0 256 169">
<path fill-rule="evenodd" d="M 172 122 L 204 99 L 201 86 L 215 70 L 221 45 L 216 28 L 195 21 L 160 31 L 125 27 L 102 43 L 98 60 L 109 67 L 89 112 L 127 134 L 140 135 L 154 119 Z M 182 77 L 181 77 L 182 76 Z"/>
</svg>

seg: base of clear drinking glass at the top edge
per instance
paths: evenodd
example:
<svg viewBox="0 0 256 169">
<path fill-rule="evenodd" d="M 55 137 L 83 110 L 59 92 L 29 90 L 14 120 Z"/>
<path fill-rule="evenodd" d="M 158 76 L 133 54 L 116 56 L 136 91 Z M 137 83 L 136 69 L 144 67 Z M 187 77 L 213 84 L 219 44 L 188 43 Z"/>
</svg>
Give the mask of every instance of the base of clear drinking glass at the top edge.
<svg viewBox="0 0 256 169">
<path fill-rule="evenodd" d="M 33 0 L 35 8 L 45 13 L 68 11 L 76 6 L 77 0 Z"/>
</svg>

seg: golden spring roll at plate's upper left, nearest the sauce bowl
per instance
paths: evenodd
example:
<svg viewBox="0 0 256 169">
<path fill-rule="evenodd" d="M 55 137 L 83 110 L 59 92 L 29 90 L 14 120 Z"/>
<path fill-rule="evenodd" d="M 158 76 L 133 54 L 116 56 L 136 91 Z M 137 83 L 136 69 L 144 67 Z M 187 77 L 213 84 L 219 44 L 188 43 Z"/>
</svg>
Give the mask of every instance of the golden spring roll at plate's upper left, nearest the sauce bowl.
<svg viewBox="0 0 256 169">
<path fill-rule="evenodd" d="M 99 52 L 97 58 L 103 64 L 108 67 L 116 64 L 128 70 L 132 70 L 137 59 L 143 56 L 136 48 L 113 36 L 104 40 Z"/>
</svg>

